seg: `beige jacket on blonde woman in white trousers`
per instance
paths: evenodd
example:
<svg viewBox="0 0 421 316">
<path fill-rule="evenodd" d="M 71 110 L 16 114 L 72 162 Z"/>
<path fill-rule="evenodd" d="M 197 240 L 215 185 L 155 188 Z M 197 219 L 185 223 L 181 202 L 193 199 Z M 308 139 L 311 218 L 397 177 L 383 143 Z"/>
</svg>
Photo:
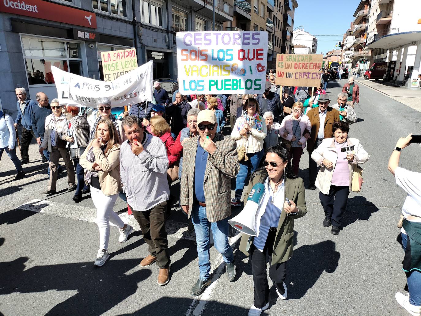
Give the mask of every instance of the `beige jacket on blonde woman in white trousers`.
<svg viewBox="0 0 421 316">
<path fill-rule="evenodd" d="M 92 147 L 92 142 L 86 147 L 83 155 L 80 157 L 80 166 L 85 170 L 94 171 L 92 163 L 86 160 L 86 155 Z M 101 167 L 102 171 L 98 172 L 99 185 L 104 195 L 117 194 L 121 190 L 120 184 L 120 145 L 115 145 L 104 155 L 101 148 L 94 148 L 95 162 Z M 86 182 L 86 181 L 85 181 Z M 88 184 L 88 183 L 86 183 Z"/>
</svg>

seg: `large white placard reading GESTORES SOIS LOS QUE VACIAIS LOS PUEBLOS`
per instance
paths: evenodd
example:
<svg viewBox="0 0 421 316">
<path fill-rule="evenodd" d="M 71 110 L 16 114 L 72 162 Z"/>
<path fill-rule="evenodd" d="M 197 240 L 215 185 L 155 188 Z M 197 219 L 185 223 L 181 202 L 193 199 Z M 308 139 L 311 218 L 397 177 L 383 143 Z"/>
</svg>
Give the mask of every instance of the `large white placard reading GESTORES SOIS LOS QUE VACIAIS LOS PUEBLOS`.
<svg viewBox="0 0 421 316">
<path fill-rule="evenodd" d="M 181 94 L 261 94 L 268 33 L 177 32 Z"/>
</svg>

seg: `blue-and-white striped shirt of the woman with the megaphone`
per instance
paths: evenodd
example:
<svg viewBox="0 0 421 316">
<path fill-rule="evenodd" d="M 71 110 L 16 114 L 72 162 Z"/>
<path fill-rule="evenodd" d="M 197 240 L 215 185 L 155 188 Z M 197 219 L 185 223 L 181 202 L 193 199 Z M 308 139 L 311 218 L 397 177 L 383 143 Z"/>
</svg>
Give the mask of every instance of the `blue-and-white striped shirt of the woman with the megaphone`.
<svg viewBox="0 0 421 316">
<path fill-rule="evenodd" d="M 265 194 L 269 195 L 269 200 L 266 204 L 264 214 L 260 219 L 260 227 L 258 236 L 254 237 L 254 246 L 263 252 L 266 244 L 267 234 L 269 228 L 278 227 L 279 218 L 281 217 L 282 207 L 285 201 L 285 181 L 278 185 L 276 193 L 273 192 L 272 187 L 269 185 L 269 177 L 265 181 Z"/>
</svg>

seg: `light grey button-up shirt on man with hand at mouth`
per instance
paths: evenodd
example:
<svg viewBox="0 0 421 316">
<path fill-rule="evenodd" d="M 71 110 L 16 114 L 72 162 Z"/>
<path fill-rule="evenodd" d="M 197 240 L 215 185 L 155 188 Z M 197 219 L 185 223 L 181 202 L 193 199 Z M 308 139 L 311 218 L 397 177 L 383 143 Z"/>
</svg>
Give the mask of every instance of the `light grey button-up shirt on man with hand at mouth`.
<svg viewBox="0 0 421 316">
<path fill-rule="evenodd" d="M 131 144 L 120 147 L 120 177 L 127 203 L 135 211 L 148 211 L 168 201 L 168 157 L 164 143 L 158 137 L 143 133 L 144 150 L 135 155 Z"/>
</svg>

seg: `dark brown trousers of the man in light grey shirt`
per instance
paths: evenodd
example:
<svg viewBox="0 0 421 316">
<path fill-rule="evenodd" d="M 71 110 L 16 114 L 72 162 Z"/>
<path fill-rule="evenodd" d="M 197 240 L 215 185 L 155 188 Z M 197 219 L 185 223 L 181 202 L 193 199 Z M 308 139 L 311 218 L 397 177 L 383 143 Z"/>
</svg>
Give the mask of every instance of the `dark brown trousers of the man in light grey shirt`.
<svg viewBox="0 0 421 316">
<path fill-rule="evenodd" d="M 139 223 L 143 239 L 149 246 L 149 253 L 157 257 L 160 268 L 170 266 L 170 253 L 168 252 L 168 238 L 165 230 L 167 219 L 167 201 L 161 202 L 148 211 L 139 212 L 133 209 L 133 216 Z"/>
</svg>

